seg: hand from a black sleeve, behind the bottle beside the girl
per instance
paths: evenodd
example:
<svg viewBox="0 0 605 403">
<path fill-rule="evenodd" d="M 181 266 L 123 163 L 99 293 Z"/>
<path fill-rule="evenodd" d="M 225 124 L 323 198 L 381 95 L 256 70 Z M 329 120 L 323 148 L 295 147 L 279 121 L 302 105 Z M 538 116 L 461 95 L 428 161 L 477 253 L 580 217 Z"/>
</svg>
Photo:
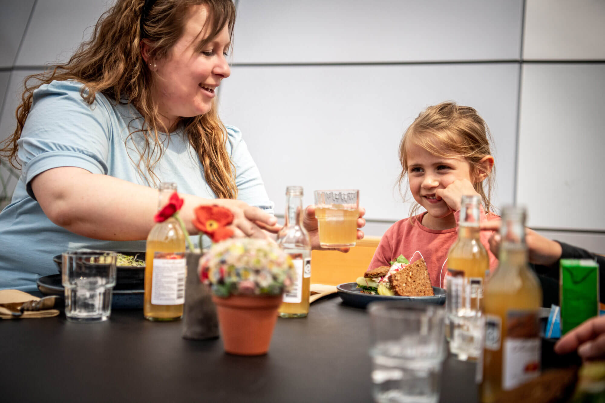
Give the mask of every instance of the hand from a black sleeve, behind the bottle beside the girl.
<svg viewBox="0 0 605 403">
<path fill-rule="evenodd" d="M 480 228 L 485 231 L 499 231 L 502 220 L 491 220 L 480 224 Z M 489 237 L 489 250 L 492 254 L 498 256 L 500 252 L 500 243 L 502 236 L 498 232 Z M 561 244 L 543 237 L 532 229 L 525 228 L 525 244 L 528 246 L 529 263 L 550 266 L 555 263 L 561 254 Z"/>
</svg>

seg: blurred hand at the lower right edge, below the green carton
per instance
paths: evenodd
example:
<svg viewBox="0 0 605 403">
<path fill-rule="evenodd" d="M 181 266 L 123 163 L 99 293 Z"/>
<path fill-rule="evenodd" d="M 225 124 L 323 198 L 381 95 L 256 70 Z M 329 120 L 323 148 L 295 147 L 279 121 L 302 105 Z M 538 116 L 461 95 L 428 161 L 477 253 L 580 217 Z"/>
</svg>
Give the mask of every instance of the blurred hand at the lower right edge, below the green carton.
<svg viewBox="0 0 605 403">
<path fill-rule="evenodd" d="M 555 344 L 558 354 L 571 353 L 576 349 L 585 360 L 605 358 L 605 316 L 588 319 Z"/>
</svg>

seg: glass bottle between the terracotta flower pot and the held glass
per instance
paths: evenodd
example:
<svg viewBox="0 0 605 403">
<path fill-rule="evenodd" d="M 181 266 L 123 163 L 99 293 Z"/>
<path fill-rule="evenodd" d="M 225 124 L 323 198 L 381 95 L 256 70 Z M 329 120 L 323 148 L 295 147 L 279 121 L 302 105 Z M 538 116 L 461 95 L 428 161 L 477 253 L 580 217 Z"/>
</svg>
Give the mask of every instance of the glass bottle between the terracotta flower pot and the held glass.
<svg viewBox="0 0 605 403">
<path fill-rule="evenodd" d="M 302 187 L 286 188 L 286 222 L 277 234 L 277 244 L 290 255 L 296 276 L 292 289 L 284 293 L 279 312 L 282 318 L 304 318 L 309 313 L 311 285 L 311 240 L 302 226 Z"/>
</svg>

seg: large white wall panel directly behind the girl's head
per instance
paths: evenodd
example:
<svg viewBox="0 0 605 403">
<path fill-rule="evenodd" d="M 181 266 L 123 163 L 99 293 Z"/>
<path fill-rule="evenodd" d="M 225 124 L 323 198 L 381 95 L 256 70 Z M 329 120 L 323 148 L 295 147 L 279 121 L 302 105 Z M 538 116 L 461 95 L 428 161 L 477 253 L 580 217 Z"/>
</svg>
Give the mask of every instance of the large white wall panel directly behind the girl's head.
<svg viewBox="0 0 605 403">
<path fill-rule="evenodd" d="M 276 211 L 287 185 L 361 189 L 368 218 L 397 220 L 409 206 L 393 192 L 397 146 L 428 105 L 477 108 L 495 137 L 498 197 L 511 202 L 517 64 L 234 67 L 221 84 L 221 116 L 238 126 Z M 381 234 L 378 234 L 381 235 Z"/>
</svg>

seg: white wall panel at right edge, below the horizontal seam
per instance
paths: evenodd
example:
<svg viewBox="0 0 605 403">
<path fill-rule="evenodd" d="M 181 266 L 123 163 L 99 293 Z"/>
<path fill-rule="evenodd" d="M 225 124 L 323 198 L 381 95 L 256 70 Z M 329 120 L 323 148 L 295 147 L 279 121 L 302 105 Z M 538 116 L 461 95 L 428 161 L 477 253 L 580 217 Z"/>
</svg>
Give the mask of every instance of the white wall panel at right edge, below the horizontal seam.
<svg viewBox="0 0 605 403">
<path fill-rule="evenodd" d="M 605 64 L 523 66 L 517 200 L 529 226 L 605 230 Z"/>
</svg>

